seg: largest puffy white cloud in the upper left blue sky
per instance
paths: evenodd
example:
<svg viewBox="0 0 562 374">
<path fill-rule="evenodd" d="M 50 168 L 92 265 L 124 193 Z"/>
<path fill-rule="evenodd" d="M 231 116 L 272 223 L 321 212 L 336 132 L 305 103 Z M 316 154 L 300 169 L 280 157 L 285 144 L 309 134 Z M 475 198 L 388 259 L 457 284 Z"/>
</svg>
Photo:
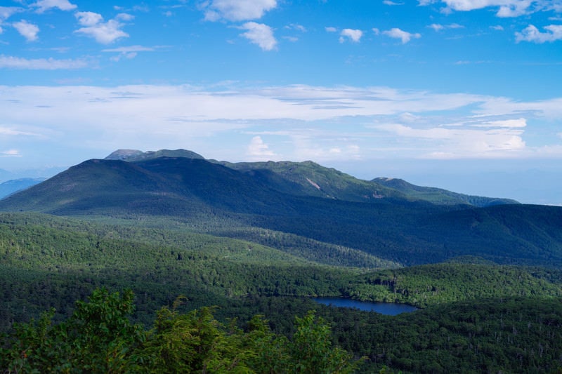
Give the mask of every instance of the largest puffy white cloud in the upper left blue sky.
<svg viewBox="0 0 562 374">
<path fill-rule="evenodd" d="M 75 16 L 79 24 L 84 26 L 75 32 L 91 36 L 100 44 L 110 44 L 119 38 L 129 36 L 122 31 L 121 27 L 124 25 L 117 19 L 103 22 L 102 15 L 93 12 L 77 12 Z"/>
</svg>

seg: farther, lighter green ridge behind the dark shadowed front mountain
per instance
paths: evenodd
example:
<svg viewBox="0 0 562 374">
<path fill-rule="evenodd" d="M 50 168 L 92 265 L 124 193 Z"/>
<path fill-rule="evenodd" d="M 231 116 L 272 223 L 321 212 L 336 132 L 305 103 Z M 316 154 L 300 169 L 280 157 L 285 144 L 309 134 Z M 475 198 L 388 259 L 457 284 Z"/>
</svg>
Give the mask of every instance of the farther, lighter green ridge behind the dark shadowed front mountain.
<svg viewBox="0 0 562 374">
<path fill-rule="evenodd" d="M 186 149 L 160 149 L 143 152 L 138 149 L 117 149 L 106 160 L 128 162 L 148 161 L 159 157 L 185 157 L 202 159 L 247 173 L 279 192 L 299 196 L 316 196 L 346 201 L 374 201 L 384 197 L 422 200 L 448 205 L 469 204 L 491 206 L 502 203 L 518 203 L 513 199 L 471 196 L 450 192 L 436 187 L 420 187 L 396 178 L 374 178 L 361 180 L 335 168 L 327 168 L 314 161 L 258 161 L 237 162 L 205 159 L 200 154 Z M 392 181 L 392 182 L 391 182 Z M 398 183 L 401 181 L 401 183 Z"/>
</svg>

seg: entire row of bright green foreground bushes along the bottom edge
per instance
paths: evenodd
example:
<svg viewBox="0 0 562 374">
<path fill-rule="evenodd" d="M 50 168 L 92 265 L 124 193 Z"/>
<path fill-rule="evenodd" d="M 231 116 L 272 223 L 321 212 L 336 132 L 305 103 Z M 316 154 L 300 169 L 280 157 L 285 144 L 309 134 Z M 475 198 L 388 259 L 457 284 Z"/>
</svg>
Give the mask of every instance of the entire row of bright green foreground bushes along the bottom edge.
<svg viewBox="0 0 562 374">
<path fill-rule="evenodd" d="M 22 323 L 1 345 L 8 373 L 351 373 L 358 363 L 332 348 L 330 328 L 313 313 L 296 319 L 293 340 L 275 335 L 261 316 L 248 332 L 224 326 L 209 307 L 157 314 L 145 331 L 129 322 L 132 293 L 96 289 L 72 316 L 53 326 L 52 313 Z"/>
</svg>

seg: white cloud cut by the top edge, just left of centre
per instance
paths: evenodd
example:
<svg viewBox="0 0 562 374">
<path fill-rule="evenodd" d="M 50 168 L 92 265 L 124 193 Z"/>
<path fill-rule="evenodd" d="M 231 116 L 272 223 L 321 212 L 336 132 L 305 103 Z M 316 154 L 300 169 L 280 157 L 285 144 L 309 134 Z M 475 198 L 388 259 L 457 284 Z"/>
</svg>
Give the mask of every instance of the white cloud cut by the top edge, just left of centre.
<svg viewBox="0 0 562 374">
<path fill-rule="evenodd" d="M 202 5 L 205 20 L 208 21 L 257 20 L 275 7 L 276 0 L 210 0 Z"/>
</svg>

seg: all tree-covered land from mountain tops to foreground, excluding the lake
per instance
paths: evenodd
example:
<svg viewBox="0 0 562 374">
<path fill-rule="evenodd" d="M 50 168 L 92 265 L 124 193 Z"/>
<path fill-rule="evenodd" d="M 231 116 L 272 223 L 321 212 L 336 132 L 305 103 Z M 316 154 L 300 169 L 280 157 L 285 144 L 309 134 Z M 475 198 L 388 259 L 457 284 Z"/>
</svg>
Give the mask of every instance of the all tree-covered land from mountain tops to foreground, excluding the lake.
<svg viewBox="0 0 562 374">
<path fill-rule="evenodd" d="M 2 372 L 562 371 L 562 208 L 182 154 L 0 201 Z"/>
</svg>

